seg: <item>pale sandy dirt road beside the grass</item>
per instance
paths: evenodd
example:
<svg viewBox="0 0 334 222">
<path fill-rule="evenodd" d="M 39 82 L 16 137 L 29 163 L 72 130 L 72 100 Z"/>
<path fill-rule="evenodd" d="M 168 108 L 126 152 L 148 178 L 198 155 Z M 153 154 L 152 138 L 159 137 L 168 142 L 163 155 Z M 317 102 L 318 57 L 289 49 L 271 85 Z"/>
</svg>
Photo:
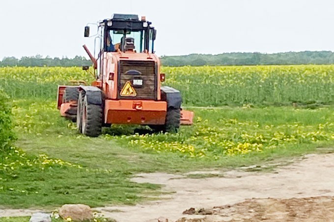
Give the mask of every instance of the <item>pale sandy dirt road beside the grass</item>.
<svg viewBox="0 0 334 222">
<path fill-rule="evenodd" d="M 299 214 L 303 213 L 303 209 L 306 209 L 304 205 L 310 202 L 308 201 L 309 199 L 298 201 L 295 199 L 277 200 L 275 198 L 319 197 L 314 200 L 314 206 L 320 207 L 320 210 L 314 210 L 314 214 L 325 215 L 329 210 L 333 214 L 334 201 L 331 197 L 334 196 L 334 154 L 306 155 L 303 160 L 297 160 L 295 163 L 285 167 L 278 167 L 275 172 L 271 173 L 230 171 L 223 172 L 222 176 L 192 179 L 167 173 L 143 173 L 133 180 L 139 183 L 163 184 L 164 191 L 174 193 L 164 196 L 166 199 L 159 201 L 147 202 L 136 206 L 104 207 L 98 208 L 98 210 L 119 222 L 157 222 L 159 217 L 165 217 L 169 222 L 174 222 L 183 217 L 205 218 L 201 220 L 205 222 L 244 221 L 246 219 L 258 221 L 260 219 L 270 219 L 270 217 L 264 216 L 265 214 L 258 217 L 259 215 L 256 216 L 253 213 L 253 211 L 263 205 L 270 208 L 269 211 L 261 208 L 263 212 L 271 212 L 270 214 L 274 215 L 277 213 L 275 217 L 279 218 L 279 216 L 283 217 L 289 213 L 290 215 L 294 214 L 294 212 L 281 210 L 285 203 L 287 206 L 294 206 L 293 203 L 297 203 L 296 209 L 300 209 L 301 212 L 297 210 L 296 214 Z M 274 199 L 246 200 L 268 197 Z M 321 204 L 326 201 L 329 202 L 327 208 Z M 225 210 L 226 212 L 224 209 L 220 209 L 223 216 L 219 216 L 219 214 L 182 214 L 184 210 L 191 207 L 212 209 L 215 206 L 227 204 L 231 206 L 231 209 Z M 236 205 L 233 206 L 233 204 Z M 277 212 L 275 213 L 275 211 Z M 310 212 L 309 214 L 311 215 Z M 314 218 L 317 218 L 317 215 L 313 215 Z M 251 219 L 253 216 L 254 218 Z M 306 220 L 306 218 L 304 219 Z M 327 221 L 321 220 L 321 218 L 318 219 L 318 221 Z"/>
</svg>

